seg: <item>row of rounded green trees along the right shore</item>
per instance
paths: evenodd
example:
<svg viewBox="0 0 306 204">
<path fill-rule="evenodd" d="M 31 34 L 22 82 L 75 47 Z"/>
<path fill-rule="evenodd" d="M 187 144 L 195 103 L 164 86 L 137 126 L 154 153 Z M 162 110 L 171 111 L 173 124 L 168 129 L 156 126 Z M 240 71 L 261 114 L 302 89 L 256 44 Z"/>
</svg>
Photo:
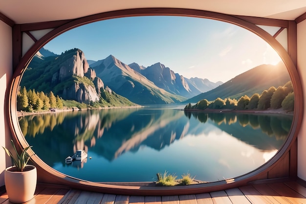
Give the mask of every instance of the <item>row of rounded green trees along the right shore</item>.
<svg viewBox="0 0 306 204">
<path fill-rule="evenodd" d="M 254 93 L 251 97 L 244 95 L 240 99 L 217 98 L 214 101 L 202 99 L 195 105 L 190 103 L 184 110 L 197 109 L 231 109 L 231 110 L 267 110 L 280 109 L 285 111 L 294 110 L 294 91 L 292 82 L 287 82 L 284 86 L 270 87 L 262 91 L 261 94 Z"/>
</svg>

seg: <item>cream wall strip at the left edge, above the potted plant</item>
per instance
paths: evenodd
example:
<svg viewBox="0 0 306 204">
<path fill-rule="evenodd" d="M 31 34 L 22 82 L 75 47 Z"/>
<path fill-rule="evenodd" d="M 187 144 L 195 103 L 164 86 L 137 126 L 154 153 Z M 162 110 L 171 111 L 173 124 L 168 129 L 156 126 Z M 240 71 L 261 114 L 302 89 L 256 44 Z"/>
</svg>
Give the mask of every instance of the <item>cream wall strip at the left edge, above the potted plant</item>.
<svg viewBox="0 0 306 204">
<path fill-rule="evenodd" d="M 4 96 L 12 78 L 12 28 L 0 21 L 0 186 L 4 185 L 4 170 L 6 168 L 5 146 L 6 138 L 10 138 L 7 120 L 4 119 Z"/>
</svg>

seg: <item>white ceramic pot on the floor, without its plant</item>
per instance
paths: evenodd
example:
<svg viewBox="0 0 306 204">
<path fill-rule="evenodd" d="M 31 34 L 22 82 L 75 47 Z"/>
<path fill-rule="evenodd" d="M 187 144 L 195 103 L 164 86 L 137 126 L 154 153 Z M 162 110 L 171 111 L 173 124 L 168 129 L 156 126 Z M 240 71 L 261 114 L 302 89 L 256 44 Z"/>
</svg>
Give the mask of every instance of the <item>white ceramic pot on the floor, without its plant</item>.
<svg viewBox="0 0 306 204">
<path fill-rule="evenodd" d="M 16 167 L 8 167 L 4 171 L 5 189 L 12 203 L 20 204 L 34 197 L 37 182 L 37 170 L 33 165 L 26 165 L 25 171 L 14 171 Z"/>
</svg>

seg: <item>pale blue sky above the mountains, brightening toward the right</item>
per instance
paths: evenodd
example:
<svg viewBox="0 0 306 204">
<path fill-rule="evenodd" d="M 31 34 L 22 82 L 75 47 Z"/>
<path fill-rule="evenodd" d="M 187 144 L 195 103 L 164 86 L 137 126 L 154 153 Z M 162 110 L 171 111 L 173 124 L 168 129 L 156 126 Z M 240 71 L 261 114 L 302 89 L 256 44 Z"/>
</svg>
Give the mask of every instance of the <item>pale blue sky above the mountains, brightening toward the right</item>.
<svg viewBox="0 0 306 204">
<path fill-rule="evenodd" d="M 87 60 L 110 54 L 125 64 L 148 67 L 157 62 L 186 78 L 226 82 L 261 64 L 280 61 L 252 32 L 215 20 L 143 16 L 86 24 L 56 37 L 44 48 L 61 54 L 79 48 Z"/>
</svg>

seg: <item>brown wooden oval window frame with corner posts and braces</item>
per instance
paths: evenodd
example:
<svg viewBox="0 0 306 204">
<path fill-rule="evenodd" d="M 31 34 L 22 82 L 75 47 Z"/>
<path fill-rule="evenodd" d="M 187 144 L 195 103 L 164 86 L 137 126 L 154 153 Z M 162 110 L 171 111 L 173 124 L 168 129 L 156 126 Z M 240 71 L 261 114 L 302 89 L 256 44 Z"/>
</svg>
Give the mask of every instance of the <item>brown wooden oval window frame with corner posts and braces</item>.
<svg viewBox="0 0 306 204">
<path fill-rule="evenodd" d="M 15 51 L 13 55 L 13 65 L 18 64 L 18 66 L 16 66 L 16 70 L 13 74 L 11 87 L 8 90 L 8 93 L 6 94 L 5 101 L 7 103 L 6 115 L 8 115 L 9 117 L 11 132 L 13 135 L 13 139 L 15 140 L 15 143 L 17 143 L 20 148 L 28 146 L 28 143 L 26 142 L 24 136 L 22 135 L 22 131 L 20 129 L 18 122 L 17 109 L 16 109 L 17 91 L 25 68 L 27 67 L 28 63 L 33 58 L 35 53 L 41 47 L 43 47 L 53 38 L 66 32 L 67 30 L 87 23 L 93 23 L 97 21 L 108 20 L 113 18 L 121 18 L 121 17 L 161 16 L 161 15 L 206 18 L 206 19 L 232 23 L 257 34 L 278 52 L 289 72 L 289 75 L 292 80 L 292 85 L 295 91 L 294 117 L 292 121 L 291 130 L 289 132 L 289 136 L 287 137 L 287 140 L 285 141 L 283 147 L 268 162 L 266 162 L 261 167 L 245 175 L 241 175 L 239 177 L 225 181 L 216 181 L 216 182 L 202 183 L 196 185 L 172 186 L 172 187 L 152 187 L 140 184 L 123 185 L 120 183 L 105 184 L 105 183 L 98 183 L 91 181 L 83 181 L 80 179 L 66 176 L 54 170 L 53 168 L 46 165 L 44 161 L 42 161 L 39 157 L 35 155 L 32 157 L 31 160 L 38 168 L 39 182 L 62 184 L 73 188 L 111 193 L 111 194 L 181 195 L 181 194 L 195 194 L 195 193 L 224 190 L 227 188 L 246 185 L 250 182 L 263 182 L 269 179 L 278 179 L 284 177 L 296 178 L 297 177 L 297 135 L 301 126 L 301 121 L 303 116 L 303 95 L 302 95 L 301 81 L 297 69 L 295 67 L 296 23 L 292 21 L 230 16 L 225 14 L 219 14 L 219 13 L 202 11 L 202 10 L 192 10 L 192 9 L 142 8 L 142 9 L 111 11 L 75 20 L 14 25 L 13 48 L 15 48 Z M 289 36 L 288 52 L 286 52 L 284 47 L 280 45 L 280 43 L 277 42 L 277 40 L 275 40 L 273 36 L 262 30 L 256 24 L 265 24 L 272 26 L 274 25 L 274 26 L 290 28 L 288 29 L 288 36 Z M 31 30 L 39 30 L 45 28 L 54 28 L 54 29 L 39 40 L 36 40 L 28 32 L 29 30 L 31 31 Z M 27 33 L 32 39 L 34 38 L 33 41 L 35 43 L 21 58 L 22 32 Z M 290 32 L 295 34 L 295 37 L 293 38 L 290 37 L 292 36 L 289 35 Z"/>
</svg>

